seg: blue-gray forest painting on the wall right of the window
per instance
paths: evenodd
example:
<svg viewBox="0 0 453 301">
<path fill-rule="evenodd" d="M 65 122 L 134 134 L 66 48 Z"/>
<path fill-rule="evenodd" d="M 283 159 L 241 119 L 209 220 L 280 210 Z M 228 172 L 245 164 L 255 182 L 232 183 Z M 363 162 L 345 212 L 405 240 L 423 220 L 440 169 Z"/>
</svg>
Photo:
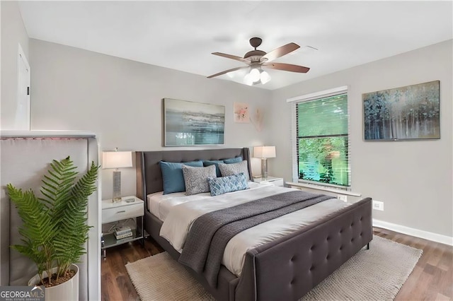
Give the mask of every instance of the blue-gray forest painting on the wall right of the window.
<svg viewBox="0 0 453 301">
<path fill-rule="evenodd" d="M 365 141 L 440 138 L 440 81 L 362 94 Z"/>
</svg>

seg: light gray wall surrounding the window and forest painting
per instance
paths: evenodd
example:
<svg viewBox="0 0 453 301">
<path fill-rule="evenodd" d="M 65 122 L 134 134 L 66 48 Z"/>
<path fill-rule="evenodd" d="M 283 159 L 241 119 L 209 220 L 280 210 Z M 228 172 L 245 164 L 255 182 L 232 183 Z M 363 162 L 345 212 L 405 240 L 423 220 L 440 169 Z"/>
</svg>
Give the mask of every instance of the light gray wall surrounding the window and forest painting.
<svg viewBox="0 0 453 301">
<path fill-rule="evenodd" d="M 453 236 L 452 40 L 273 91 L 270 174 L 292 180 L 291 105 L 306 93 L 349 86 L 352 191 L 384 201 L 373 217 Z M 440 80 L 441 139 L 365 142 L 362 93 Z"/>
</svg>

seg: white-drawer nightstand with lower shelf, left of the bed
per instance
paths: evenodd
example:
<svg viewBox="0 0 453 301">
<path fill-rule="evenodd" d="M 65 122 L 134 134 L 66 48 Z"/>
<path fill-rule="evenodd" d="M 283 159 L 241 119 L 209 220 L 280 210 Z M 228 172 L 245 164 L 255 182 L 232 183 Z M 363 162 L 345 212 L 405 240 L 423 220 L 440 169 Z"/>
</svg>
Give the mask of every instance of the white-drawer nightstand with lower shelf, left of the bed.
<svg viewBox="0 0 453 301">
<path fill-rule="evenodd" d="M 133 201 L 132 201 L 133 200 Z M 110 231 L 103 232 L 101 236 L 101 250 L 103 251 L 103 258 L 105 259 L 105 249 L 115 247 L 126 242 L 133 242 L 134 240 L 141 240 L 144 243 L 144 238 L 148 237 L 148 233 L 144 230 L 143 220 L 144 216 L 144 201 L 136 196 L 124 196 L 120 202 L 113 203 L 111 199 L 102 201 L 102 223 L 115 223 Z M 132 236 L 117 240 L 114 232 L 115 226 L 122 220 L 130 218 L 137 218 L 135 225 L 132 229 Z"/>
</svg>

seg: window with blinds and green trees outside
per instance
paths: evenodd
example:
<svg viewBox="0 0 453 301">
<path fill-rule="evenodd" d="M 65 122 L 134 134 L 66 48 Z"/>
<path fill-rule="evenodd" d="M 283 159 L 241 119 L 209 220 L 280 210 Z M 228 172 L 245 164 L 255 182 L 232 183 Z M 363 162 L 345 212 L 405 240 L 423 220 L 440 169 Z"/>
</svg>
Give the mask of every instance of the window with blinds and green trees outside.
<svg viewBox="0 0 453 301">
<path fill-rule="evenodd" d="M 293 111 L 294 179 L 350 186 L 345 87 L 296 98 Z"/>
</svg>

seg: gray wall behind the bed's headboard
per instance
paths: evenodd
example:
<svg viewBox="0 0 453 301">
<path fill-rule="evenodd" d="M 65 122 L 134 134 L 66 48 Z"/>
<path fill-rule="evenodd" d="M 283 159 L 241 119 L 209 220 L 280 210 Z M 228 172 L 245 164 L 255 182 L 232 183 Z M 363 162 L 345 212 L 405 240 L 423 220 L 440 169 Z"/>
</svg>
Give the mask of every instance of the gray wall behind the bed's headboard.
<svg viewBox="0 0 453 301">
<path fill-rule="evenodd" d="M 263 131 L 257 131 L 253 124 L 234 123 L 233 118 L 234 102 L 246 102 L 251 112 L 260 108 L 269 116 L 268 90 L 34 39 L 30 39 L 30 61 L 32 129 L 93 131 L 101 151 L 115 147 L 161 150 L 161 102 L 176 98 L 225 106 L 222 147 L 270 142 L 266 141 L 266 124 Z M 260 162 L 253 161 L 258 174 Z M 102 176 L 102 197 L 109 199 L 112 171 L 103 170 Z M 122 195 L 134 194 L 134 169 L 122 169 Z"/>
</svg>

